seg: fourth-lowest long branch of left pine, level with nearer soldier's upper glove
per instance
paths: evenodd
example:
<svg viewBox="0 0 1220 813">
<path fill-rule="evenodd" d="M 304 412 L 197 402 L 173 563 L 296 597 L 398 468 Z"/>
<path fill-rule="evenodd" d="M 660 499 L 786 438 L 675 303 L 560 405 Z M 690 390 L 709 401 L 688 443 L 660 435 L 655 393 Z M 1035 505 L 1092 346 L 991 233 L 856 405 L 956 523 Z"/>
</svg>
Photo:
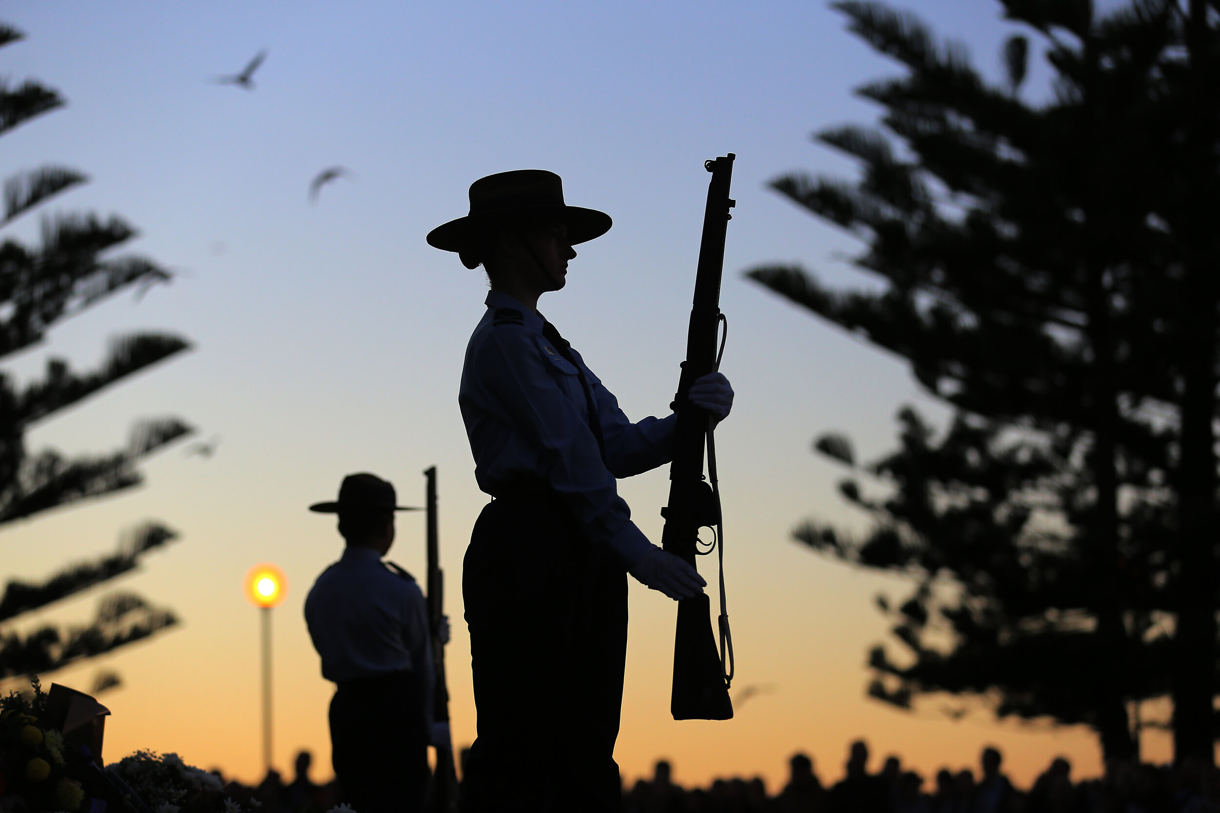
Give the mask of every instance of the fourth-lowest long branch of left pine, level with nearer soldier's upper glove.
<svg viewBox="0 0 1220 813">
<path fill-rule="evenodd" d="M 11 419 L 27 427 L 189 347 L 184 339 L 166 334 L 121 336 L 111 343 L 101 367 L 82 375 L 73 374 L 66 361 L 51 358 L 46 377 L 16 399 Z"/>
</svg>

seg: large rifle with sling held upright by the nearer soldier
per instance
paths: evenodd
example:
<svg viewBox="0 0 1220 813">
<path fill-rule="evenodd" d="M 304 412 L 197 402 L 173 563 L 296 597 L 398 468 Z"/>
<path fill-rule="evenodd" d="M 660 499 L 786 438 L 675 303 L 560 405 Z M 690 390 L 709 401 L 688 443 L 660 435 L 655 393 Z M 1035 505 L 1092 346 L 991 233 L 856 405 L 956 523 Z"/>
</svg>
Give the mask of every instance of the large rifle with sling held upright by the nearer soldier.
<svg viewBox="0 0 1220 813">
<path fill-rule="evenodd" d="M 694 304 L 687 330 L 687 356 L 682 362 L 678 391 L 671 408 L 677 413 L 673 429 L 673 462 L 670 464 L 670 501 L 661 508 L 665 531 L 661 546 L 694 567 L 699 550 L 699 529 L 711 528 L 712 545 L 720 550 L 720 651 L 711 633 L 711 605 L 708 594 L 678 602 L 677 631 L 673 639 L 673 691 L 670 713 L 676 720 L 727 720 L 733 717 L 728 686 L 733 679 L 733 641 L 725 603 L 723 523 L 720 489 L 716 485 L 716 451 L 711 428 L 714 421 L 705 410 L 691 403 L 688 395 L 695 379 L 720 367 L 716 339 L 720 323 L 728 322 L 720 312 L 720 279 L 725 269 L 725 235 L 736 202 L 728 196 L 733 160 L 726 156 L 705 161 L 711 173 L 708 207 L 703 218 L 703 241 L 694 280 Z M 720 345 L 720 352 L 725 350 Z M 703 451 L 708 449 L 708 474 L 703 475 Z"/>
</svg>

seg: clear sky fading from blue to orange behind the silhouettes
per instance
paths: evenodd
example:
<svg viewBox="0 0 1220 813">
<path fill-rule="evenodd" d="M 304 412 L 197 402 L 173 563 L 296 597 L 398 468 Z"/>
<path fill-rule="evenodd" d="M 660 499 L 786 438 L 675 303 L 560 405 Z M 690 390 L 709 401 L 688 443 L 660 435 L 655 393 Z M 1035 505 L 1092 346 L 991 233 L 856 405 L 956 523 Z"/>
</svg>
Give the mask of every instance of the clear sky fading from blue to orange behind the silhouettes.
<svg viewBox="0 0 1220 813">
<path fill-rule="evenodd" d="M 1011 33 L 998 4 L 916 7 L 998 79 L 998 46 Z M 37 579 L 111 550 L 146 517 L 182 531 L 122 586 L 173 607 L 183 624 L 55 675 L 88 689 L 99 667 L 122 674 L 124 686 L 102 696 L 113 711 L 107 758 L 150 747 L 257 778 L 257 618 L 242 578 L 271 561 L 289 579 L 274 611 L 274 761 L 288 770 L 309 747 L 315 778 L 329 775 L 332 687 L 318 674 L 301 603 L 342 542 L 333 520 L 305 506 L 329 499 L 354 470 L 387 477 L 403 500 L 418 502 L 432 464 L 455 620 L 454 737 L 470 742 L 460 563 L 487 497 L 475 485 L 456 392 L 486 282 L 423 235 L 465 213 L 466 188 L 481 176 L 560 173 L 569 202 L 609 212 L 615 227 L 578 247 L 567 288 L 540 307 L 630 416 L 664 414 L 683 353 L 702 163 L 733 151 L 737 208 L 721 305 L 723 371 L 738 395 L 717 445 L 734 691 L 758 694 L 732 722 L 671 720 L 673 605 L 633 581 L 617 748 L 625 776 L 666 757 L 682 783 L 758 774 L 775 790 L 787 758 L 805 751 L 833 780 L 858 735 L 871 742 L 874 767 L 899 753 L 925 776 L 976 765 L 986 744 L 1004 750 L 1021 783 L 1059 753 L 1077 774 L 1097 773 L 1086 730 L 997 724 L 981 705 L 953 722 L 947 702 L 902 713 L 866 700 L 866 651 L 886 633 L 874 596 L 905 585 L 791 541 L 809 516 L 863 523 L 836 496 L 839 473 L 809 452 L 815 434 L 844 430 L 867 458 L 893 445 L 902 405 L 944 417 L 899 361 L 742 278 L 755 263 L 802 261 L 828 279 L 870 284 L 843 261 L 859 247 L 852 239 L 765 185 L 797 168 L 850 174 L 849 162 L 808 135 L 874 122 L 876 108 L 852 89 L 898 71 L 825 4 L 27 0 L 5 4 L 4 20 L 29 39 L 0 52 L 0 73 L 37 77 L 70 101 L 0 141 L 5 173 L 44 162 L 83 169 L 93 183 L 46 208 L 121 213 L 142 229 L 133 249 L 178 273 L 139 302 L 120 297 L 62 324 L 7 372 L 32 375 L 49 355 L 88 366 L 109 336 L 135 328 L 178 332 L 196 346 L 39 427 L 32 447 L 101 451 L 122 444 L 134 418 L 165 413 L 222 439 L 211 460 L 173 449 L 146 467 L 138 491 L 9 527 L 0 540 L 4 574 Z M 253 93 L 210 83 L 264 48 Z M 1047 72 L 1031 77 L 1027 91 L 1038 94 Z M 310 205 L 310 179 L 332 165 L 354 177 Z M 12 232 L 35 234 L 37 218 Z M 659 540 L 665 470 L 622 483 L 622 492 Z M 392 552 L 416 573 L 422 534 L 418 514 L 403 516 Z M 34 620 L 82 620 L 98 595 Z M 1165 739 L 1146 735 L 1144 753 L 1164 758 Z"/>
</svg>

